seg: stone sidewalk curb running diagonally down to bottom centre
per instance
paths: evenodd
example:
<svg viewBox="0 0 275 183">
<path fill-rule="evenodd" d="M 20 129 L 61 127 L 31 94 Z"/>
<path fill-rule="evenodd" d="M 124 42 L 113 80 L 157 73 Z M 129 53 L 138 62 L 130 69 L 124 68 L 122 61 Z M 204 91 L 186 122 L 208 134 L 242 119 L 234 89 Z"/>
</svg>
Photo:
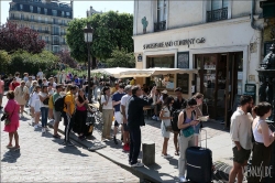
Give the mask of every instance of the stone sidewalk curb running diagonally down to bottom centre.
<svg viewBox="0 0 275 183">
<path fill-rule="evenodd" d="M 52 123 L 48 123 L 48 127 L 54 128 Z M 64 131 L 58 129 L 58 132 L 61 132 L 62 134 L 64 134 Z M 79 141 L 76 137 L 70 137 L 75 142 L 81 144 L 82 147 L 85 147 L 87 150 L 89 147 L 87 147 L 82 141 Z M 88 150 L 89 151 L 89 150 Z M 97 154 L 108 159 L 109 161 L 120 165 L 122 169 L 131 172 L 132 174 L 134 174 L 135 176 L 140 177 L 140 179 L 144 179 L 144 180 L 148 180 L 150 182 L 163 182 L 162 180 L 158 179 L 154 179 L 153 176 L 150 175 L 150 173 L 145 173 L 145 171 L 141 171 L 145 168 L 131 168 L 128 163 L 123 163 L 121 161 L 117 161 L 117 157 L 113 157 L 109 153 L 106 153 L 102 149 L 98 149 L 91 152 L 96 152 Z"/>
</svg>

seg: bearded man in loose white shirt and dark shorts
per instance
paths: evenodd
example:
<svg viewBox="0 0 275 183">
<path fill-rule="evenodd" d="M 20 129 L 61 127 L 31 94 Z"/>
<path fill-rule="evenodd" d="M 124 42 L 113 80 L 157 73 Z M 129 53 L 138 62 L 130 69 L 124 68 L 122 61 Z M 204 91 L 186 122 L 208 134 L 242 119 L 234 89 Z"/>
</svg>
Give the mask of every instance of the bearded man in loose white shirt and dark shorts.
<svg viewBox="0 0 275 183">
<path fill-rule="evenodd" d="M 231 117 L 230 137 L 232 140 L 233 150 L 233 168 L 229 174 L 229 183 L 243 181 L 243 170 L 248 164 L 252 149 L 252 121 L 251 110 L 253 107 L 253 98 L 243 95 L 240 98 L 240 107 L 234 111 Z"/>
</svg>

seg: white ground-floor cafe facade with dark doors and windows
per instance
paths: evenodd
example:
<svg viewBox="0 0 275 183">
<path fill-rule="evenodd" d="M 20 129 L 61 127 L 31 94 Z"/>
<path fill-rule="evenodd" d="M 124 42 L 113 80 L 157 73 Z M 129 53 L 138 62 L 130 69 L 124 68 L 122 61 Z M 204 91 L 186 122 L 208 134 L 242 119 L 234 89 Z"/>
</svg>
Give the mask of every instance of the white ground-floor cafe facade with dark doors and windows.
<svg viewBox="0 0 275 183">
<path fill-rule="evenodd" d="M 245 93 L 245 84 L 254 84 L 262 61 L 261 33 L 251 28 L 249 18 L 206 23 L 133 36 L 136 68 L 196 68 L 197 74 L 164 76 L 173 83 L 166 87 L 184 89 L 184 97 L 196 92 L 205 95 L 204 114 L 211 119 L 228 118 L 237 95 Z M 161 77 L 161 76 L 160 76 Z M 156 78 L 141 79 L 150 84 Z M 160 79 L 161 80 L 161 79 Z M 164 88 L 160 84 L 161 88 Z"/>
</svg>

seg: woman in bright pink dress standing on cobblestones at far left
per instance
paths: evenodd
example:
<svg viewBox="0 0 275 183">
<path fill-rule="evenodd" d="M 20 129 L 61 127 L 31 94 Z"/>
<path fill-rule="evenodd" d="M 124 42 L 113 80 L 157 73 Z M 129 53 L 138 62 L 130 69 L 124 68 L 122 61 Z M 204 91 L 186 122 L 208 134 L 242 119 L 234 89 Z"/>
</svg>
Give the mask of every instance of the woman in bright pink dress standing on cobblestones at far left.
<svg viewBox="0 0 275 183">
<path fill-rule="evenodd" d="M 19 128 L 19 104 L 14 100 L 14 92 L 10 90 L 7 93 L 8 103 L 4 107 L 4 112 L 9 115 L 9 125 L 4 125 L 3 131 L 9 132 L 9 143 L 7 148 L 11 149 L 20 149 L 19 146 L 19 134 L 18 134 L 18 128 Z M 12 139 L 14 137 L 15 147 L 12 146 Z"/>
</svg>

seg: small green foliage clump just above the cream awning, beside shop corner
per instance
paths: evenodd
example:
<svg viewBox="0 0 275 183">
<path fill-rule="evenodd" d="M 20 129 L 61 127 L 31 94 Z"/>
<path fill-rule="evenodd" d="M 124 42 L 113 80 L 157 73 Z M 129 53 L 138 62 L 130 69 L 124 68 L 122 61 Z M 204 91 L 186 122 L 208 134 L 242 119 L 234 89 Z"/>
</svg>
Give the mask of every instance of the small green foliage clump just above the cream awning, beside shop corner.
<svg viewBox="0 0 275 183">
<path fill-rule="evenodd" d="M 106 60 L 108 67 L 135 67 L 135 60 L 133 53 L 127 53 L 124 49 L 114 50 L 111 58 Z"/>
</svg>

